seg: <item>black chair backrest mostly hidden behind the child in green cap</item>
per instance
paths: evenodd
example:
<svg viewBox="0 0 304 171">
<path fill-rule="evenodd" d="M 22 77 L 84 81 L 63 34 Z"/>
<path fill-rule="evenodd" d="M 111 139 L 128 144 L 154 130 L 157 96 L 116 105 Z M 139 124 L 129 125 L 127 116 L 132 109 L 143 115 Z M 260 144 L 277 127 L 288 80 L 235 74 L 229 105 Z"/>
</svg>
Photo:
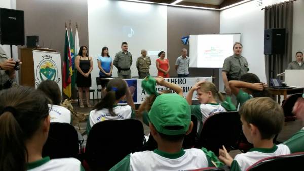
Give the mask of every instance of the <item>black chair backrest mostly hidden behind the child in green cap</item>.
<svg viewBox="0 0 304 171">
<path fill-rule="evenodd" d="M 192 148 L 196 143 L 197 138 L 197 127 L 198 127 L 198 120 L 194 115 L 191 115 L 191 121 L 193 122 L 193 129 L 191 133 L 184 137 L 184 141 L 182 144 L 183 149 Z M 154 140 L 153 136 L 150 134 L 149 140 L 147 141 L 147 147 L 143 148 L 145 150 L 154 150 L 157 148 L 157 142 Z"/>
</svg>

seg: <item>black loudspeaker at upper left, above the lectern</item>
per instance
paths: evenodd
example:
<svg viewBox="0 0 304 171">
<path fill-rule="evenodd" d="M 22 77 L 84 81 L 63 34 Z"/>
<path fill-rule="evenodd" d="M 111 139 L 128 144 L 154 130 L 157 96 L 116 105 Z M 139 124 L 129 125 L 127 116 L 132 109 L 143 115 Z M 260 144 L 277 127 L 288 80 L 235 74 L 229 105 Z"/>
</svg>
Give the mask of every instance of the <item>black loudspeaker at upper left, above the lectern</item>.
<svg viewBox="0 0 304 171">
<path fill-rule="evenodd" d="M 0 8 L 0 44 L 24 45 L 24 11 Z"/>
</svg>

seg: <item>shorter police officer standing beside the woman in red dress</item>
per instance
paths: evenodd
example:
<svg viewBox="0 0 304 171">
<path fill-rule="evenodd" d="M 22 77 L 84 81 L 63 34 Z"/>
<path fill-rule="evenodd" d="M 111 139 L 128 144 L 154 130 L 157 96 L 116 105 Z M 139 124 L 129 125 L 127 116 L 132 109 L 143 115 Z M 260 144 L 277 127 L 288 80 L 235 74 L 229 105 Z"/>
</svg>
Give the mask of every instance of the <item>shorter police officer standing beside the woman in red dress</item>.
<svg viewBox="0 0 304 171">
<path fill-rule="evenodd" d="M 137 58 L 136 61 L 136 67 L 138 70 L 138 76 L 139 78 L 145 78 L 146 76 L 150 75 L 150 65 L 151 65 L 151 59 L 147 56 L 146 50 L 141 50 L 141 56 Z"/>
</svg>

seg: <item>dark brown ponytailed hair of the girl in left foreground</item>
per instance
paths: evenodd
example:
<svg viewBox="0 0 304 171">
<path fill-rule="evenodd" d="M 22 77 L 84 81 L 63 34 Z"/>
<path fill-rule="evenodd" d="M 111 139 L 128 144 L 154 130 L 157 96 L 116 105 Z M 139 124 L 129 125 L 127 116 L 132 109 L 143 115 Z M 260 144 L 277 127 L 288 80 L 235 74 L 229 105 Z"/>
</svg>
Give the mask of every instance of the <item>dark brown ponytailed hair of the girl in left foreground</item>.
<svg viewBox="0 0 304 171">
<path fill-rule="evenodd" d="M 49 100 L 30 87 L 0 93 L 0 170 L 26 170 L 25 142 L 49 115 Z"/>
</svg>

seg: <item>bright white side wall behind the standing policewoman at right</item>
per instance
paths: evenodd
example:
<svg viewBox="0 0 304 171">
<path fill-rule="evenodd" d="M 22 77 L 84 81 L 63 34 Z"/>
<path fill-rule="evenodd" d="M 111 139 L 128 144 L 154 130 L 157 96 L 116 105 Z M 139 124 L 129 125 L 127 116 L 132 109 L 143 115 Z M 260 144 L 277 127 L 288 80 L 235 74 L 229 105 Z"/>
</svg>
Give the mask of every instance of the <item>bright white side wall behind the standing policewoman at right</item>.
<svg viewBox="0 0 304 171">
<path fill-rule="evenodd" d="M 241 33 L 242 56 L 247 58 L 249 72 L 255 73 L 262 82 L 266 82 L 264 60 L 264 11 L 261 8 L 284 0 L 264 0 L 257 7 L 257 1 L 250 1 L 220 12 L 220 33 Z M 304 32 L 303 1 L 294 2 L 293 51 L 303 50 Z M 221 75 L 220 75 L 221 77 Z M 220 81 L 220 87 L 223 82 Z"/>
</svg>

